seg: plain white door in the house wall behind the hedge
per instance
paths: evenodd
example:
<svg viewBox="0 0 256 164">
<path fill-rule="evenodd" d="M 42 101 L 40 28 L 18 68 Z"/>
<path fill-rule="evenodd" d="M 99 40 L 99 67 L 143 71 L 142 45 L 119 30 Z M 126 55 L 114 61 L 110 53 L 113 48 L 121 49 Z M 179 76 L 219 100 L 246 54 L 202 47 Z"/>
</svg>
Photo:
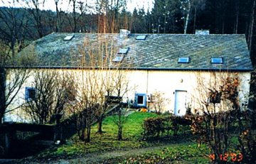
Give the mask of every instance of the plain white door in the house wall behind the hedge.
<svg viewBox="0 0 256 164">
<path fill-rule="evenodd" d="M 186 91 L 175 92 L 174 114 L 176 116 L 184 116 L 186 114 Z"/>
</svg>

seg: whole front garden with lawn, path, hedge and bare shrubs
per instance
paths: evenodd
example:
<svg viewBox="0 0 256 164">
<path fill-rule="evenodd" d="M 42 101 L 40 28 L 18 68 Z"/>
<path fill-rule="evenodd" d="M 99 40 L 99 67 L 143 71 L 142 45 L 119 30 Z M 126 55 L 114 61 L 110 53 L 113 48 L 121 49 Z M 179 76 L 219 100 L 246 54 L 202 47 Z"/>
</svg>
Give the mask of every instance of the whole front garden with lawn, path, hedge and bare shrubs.
<svg viewBox="0 0 256 164">
<path fill-rule="evenodd" d="M 88 101 L 81 110 L 56 121 L 53 129 L 62 131 L 60 136 L 69 133 L 68 137 L 60 137 L 36 155 L 14 161 L 255 163 L 256 114 L 249 105 L 240 104 L 239 82 L 238 77 L 227 77 L 218 89 L 206 89 L 208 101 L 201 102 L 201 114 L 192 114 L 189 106 L 184 116 L 164 113 L 161 103 L 155 111 L 132 109 L 119 97 L 107 97 L 102 104 Z"/>
</svg>

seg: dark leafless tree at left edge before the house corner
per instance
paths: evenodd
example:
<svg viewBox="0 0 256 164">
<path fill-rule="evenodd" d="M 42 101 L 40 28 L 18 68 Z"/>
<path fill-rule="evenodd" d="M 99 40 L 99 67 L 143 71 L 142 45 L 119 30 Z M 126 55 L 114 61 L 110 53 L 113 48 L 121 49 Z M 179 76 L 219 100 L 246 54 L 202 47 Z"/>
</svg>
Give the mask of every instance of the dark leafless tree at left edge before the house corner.
<svg viewBox="0 0 256 164">
<path fill-rule="evenodd" d="M 18 92 L 21 90 L 22 85 L 30 76 L 31 70 L 26 69 L 36 62 L 33 52 L 33 47 L 28 48 L 26 54 L 21 53 L 19 57 L 9 58 L 6 52 L 9 47 L 0 43 L 0 124 L 4 114 L 14 111 L 9 106 L 16 99 Z"/>
</svg>

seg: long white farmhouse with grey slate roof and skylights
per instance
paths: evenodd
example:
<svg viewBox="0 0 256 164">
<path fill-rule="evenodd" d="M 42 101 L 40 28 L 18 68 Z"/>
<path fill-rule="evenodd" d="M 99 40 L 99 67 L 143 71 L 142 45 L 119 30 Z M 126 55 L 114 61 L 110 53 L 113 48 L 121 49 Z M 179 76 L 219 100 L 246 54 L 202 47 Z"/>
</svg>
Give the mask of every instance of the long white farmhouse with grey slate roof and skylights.
<svg viewBox="0 0 256 164">
<path fill-rule="evenodd" d="M 188 106 L 197 109 L 208 97 L 202 88 L 218 88 L 226 76 L 239 76 L 240 102 L 247 101 L 250 91 L 252 63 L 245 35 L 130 34 L 125 30 L 120 34 L 51 33 L 30 46 L 38 56 L 31 69 L 37 71 L 79 75 L 92 67 L 114 70 L 122 63 L 119 69 L 133 88 L 123 100 L 153 111 L 155 92 L 164 98 L 163 111 L 182 116 Z M 93 58 L 93 54 L 107 62 Z M 29 92 L 33 86 L 28 80 L 16 102 L 26 102 Z"/>
</svg>

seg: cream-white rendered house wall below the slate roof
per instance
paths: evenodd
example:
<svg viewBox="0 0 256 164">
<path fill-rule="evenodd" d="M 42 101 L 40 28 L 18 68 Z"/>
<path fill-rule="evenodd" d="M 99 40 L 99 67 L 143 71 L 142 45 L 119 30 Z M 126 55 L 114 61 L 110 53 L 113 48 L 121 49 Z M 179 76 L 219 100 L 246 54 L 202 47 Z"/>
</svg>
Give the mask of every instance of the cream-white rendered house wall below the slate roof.
<svg viewBox="0 0 256 164">
<path fill-rule="evenodd" d="M 38 71 L 38 70 L 34 70 Z M 82 84 L 82 79 L 91 70 L 53 70 L 59 72 L 69 72 L 75 75 L 75 80 Z M 187 102 L 191 104 L 191 107 L 196 109 L 202 99 L 207 99 L 207 95 L 202 95 L 200 91 L 201 84 L 198 82 L 203 82 L 206 87 L 218 87 L 220 80 L 225 78 L 228 74 L 225 72 L 197 72 L 197 71 L 164 71 L 164 70 L 129 70 L 122 71 L 126 74 L 126 78 L 129 81 L 129 92 L 124 94 L 124 102 L 127 98 L 134 101 L 135 93 L 153 94 L 155 91 L 163 93 L 164 97 L 167 99 L 164 105 L 164 111 L 174 112 L 174 102 L 175 102 L 175 92 L 177 90 L 186 91 Z M 106 72 L 101 71 L 99 73 L 104 74 Z M 230 73 L 231 76 L 234 73 Z M 250 91 L 250 72 L 239 72 L 240 77 L 240 102 L 247 101 L 247 95 Z M 23 87 L 21 87 L 20 92 L 14 103 L 9 106 L 9 109 L 14 109 L 21 104 L 25 103 L 25 88 L 33 87 L 33 75 L 28 78 Z M 150 104 L 150 103 L 148 103 Z M 149 109 L 154 110 L 152 106 L 148 106 Z M 11 116 L 12 114 L 13 116 Z M 6 114 L 6 121 L 26 121 L 26 119 L 18 118 L 14 115 L 23 115 L 23 111 L 16 109 L 14 112 Z M 9 119 L 8 119 L 9 118 Z M 12 119 L 11 119 L 12 118 Z"/>
</svg>

